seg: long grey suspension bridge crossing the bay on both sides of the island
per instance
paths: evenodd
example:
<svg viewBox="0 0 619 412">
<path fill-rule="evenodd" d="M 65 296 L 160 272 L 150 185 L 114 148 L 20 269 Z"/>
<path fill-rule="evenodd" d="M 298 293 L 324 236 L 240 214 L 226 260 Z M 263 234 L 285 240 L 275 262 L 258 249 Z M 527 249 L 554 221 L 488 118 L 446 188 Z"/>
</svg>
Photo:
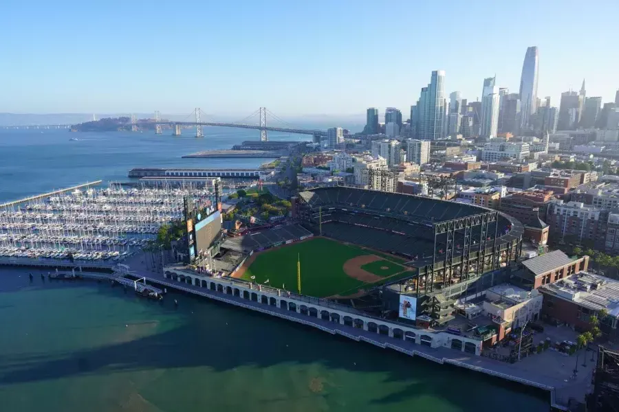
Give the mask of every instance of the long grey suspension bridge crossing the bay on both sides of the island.
<svg viewBox="0 0 619 412">
<path fill-rule="evenodd" d="M 270 119 L 274 119 L 278 126 L 267 125 L 267 114 Z M 5 129 L 52 129 L 52 128 L 72 128 L 72 124 L 30 124 L 19 126 L 0 126 Z M 129 126 L 126 124 L 125 126 Z M 155 134 L 162 134 L 162 129 L 165 127 L 172 128 L 172 135 L 180 136 L 182 128 L 194 127 L 195 137 L 204 137 L 204 127 L 217 126 L 217 127 L 231 127 L 231 128 L 244 128 L 259 130 L 260 140 L 268 141 L 268 132 L 281 132 L 281 133 L 294 133 L 297 135 L 312 135 L 314 141 L 320 141 L 321 137 L 327 136 L 326 130 L 298 128 L 292 124 L 285 122 L 277 115 L 274 115 L 265 107 L 259 108 L 254 113 L 244 117 L 235 122 L 217 122 L 215 119 L 210 118 L 199 107 L 195 108 L 187 117 L 181 121 L 166 120 L 161 118 L 160 111 L 155 111 L 155 115 L 152 119 L 137 119 L 135 115 L 131 115 L 131 131 L 138 132 L 141 128 L 154 128 Z"/>
</svg>

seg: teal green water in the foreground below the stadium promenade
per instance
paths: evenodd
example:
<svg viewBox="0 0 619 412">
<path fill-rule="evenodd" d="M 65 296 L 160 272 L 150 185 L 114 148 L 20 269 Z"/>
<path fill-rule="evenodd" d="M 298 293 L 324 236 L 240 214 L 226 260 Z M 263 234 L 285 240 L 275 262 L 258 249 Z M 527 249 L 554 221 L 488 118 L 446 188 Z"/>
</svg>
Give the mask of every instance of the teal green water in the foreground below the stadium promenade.
<svg viewBox="0 0 619 412">
<path fill-rule="evenodd" d="M 543 393 L 186 295 L 0 268 L 0 325 L 1 411 L 549 409 Z"/>
</svg>

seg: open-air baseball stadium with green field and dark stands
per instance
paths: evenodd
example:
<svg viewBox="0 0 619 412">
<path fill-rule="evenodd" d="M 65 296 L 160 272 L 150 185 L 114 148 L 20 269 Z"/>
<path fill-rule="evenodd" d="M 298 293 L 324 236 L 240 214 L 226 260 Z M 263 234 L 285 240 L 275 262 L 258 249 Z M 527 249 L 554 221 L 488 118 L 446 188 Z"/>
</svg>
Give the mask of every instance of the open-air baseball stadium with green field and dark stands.
<svg viewBox="0 0 619 412">
<path fill-rule="evenodd" d="M 232 276 L 316 298 L 402 295 L 417 323 L 453 319 L 455 299 L 515 262 L 523 226 L 498 211 L 435 198 L 318 187 L 292 199 L 294 223 L 229 238 L 248 255 Z"/>
</svg>

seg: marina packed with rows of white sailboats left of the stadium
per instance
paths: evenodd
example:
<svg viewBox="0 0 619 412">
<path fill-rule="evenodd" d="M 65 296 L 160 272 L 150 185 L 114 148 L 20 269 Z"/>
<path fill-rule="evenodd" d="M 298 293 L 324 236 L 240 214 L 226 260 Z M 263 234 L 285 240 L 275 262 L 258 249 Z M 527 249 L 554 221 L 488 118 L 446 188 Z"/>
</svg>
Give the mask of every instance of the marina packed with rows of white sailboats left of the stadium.
<svg viewBox="0 0 619 412">
<path fill-rule="evenodd" d="M 10 203 L 0 209 L 0 264 L 111 266 L 149 245 L 161 225 L 182 218 L 184 198 L 209 194 L 204 185 L 110 184 Z"/>
</svg>

